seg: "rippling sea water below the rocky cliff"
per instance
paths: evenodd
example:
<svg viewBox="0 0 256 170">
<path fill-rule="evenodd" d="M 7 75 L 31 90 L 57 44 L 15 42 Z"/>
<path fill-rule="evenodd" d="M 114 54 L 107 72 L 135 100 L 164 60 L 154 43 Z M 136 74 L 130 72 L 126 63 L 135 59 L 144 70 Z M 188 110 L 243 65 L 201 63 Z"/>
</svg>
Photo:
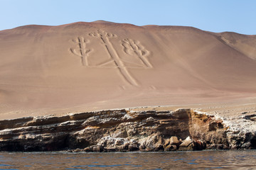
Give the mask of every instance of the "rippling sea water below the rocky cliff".
<svg viewBox="0 0 256 170">
<path fill-rule="evenodd" d="M 256 169 L 256 150 L 0 152 L 0 169 Z"/>
</svg>

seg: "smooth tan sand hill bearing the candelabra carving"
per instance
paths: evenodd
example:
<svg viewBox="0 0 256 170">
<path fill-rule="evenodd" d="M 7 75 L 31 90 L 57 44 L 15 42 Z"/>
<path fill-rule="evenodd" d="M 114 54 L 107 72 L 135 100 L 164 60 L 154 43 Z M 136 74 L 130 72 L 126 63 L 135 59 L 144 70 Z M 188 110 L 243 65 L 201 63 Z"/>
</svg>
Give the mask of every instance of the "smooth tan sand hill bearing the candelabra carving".
<svg viewBox="0 0 256 170">
<path fill-rule="evenodd" d="M 0 31 L 0 119 L 256 95 L 256 36 L 95 21 Z"/>
</svg>

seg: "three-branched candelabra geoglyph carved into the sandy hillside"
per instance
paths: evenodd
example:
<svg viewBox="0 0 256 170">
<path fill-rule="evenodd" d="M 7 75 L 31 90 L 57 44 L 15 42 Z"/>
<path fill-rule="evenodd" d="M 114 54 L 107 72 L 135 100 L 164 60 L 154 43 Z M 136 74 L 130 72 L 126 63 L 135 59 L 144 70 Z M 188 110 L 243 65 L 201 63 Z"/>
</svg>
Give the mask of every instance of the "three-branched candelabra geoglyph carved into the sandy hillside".
<svg viewBox="0 0 256 170">
<path fill-rule="evenodd" d="M 122 40 L 121 45 L 123 47 L 123 51 L 125 54 L 129 55 L 130 57 L 137 57 L 138 63 L 132 63 L 129 59 L 124 60 L 122 57 L 119 56 L 117 50 L 114 49 L 112 42 L 110 41 L 111 38 L 117 38 L 117 35 L 112 33 L 107 33 L 104 30 L 97 30 L 93 33 L 89 33 L 90 37 L 97 38 L 102 42 L 102 45 L 105 47 L 107 51 L 107 55 L 109 55 L 109 60 L 103 61 L 100 64 L 90 66 L 88 62 L 88 55 L 92 51 L 87 49 L 86 45 L 89 40 L 85 40 L 83 37 L 78 37 L 77 39 L 73 40 L 77 47 L 70 48 L 70 52 L 74 55 L 81 58 L 82 66 L 85 67 L 112 67 L 119 69 L 120 74 L 122 77 L 131 85 L 138 86 L 138 83 L 134 77 L 129 73 L 127 68 L 152 68 L 150 62 L 146 59 L 146 56 L 149 55 L 149 51 L 146 50 L 139 41 L 132 40 L 129 38 L 125 38 Z M 135 65 L 135 67 L 129 66 L 129 64 Z"/>
</svg>

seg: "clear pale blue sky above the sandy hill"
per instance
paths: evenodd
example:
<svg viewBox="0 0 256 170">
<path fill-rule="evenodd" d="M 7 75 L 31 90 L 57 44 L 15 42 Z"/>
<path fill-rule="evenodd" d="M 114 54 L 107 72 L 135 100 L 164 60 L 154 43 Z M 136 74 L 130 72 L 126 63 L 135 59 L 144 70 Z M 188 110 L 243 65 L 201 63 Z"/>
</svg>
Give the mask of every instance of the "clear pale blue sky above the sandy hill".
<svg viewBox="0 0 256 170">
<path fill-rule="evenodd" d="M 105 20 L 256 35 L 255 0 L 0 0 L 0 30 Z"/>
</svg>

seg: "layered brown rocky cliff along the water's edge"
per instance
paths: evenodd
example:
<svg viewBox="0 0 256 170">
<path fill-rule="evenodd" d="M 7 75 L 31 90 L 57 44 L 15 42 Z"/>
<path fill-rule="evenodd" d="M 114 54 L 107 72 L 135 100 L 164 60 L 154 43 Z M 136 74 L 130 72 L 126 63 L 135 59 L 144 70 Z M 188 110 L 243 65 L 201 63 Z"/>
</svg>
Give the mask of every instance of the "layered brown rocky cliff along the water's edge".
<svg viewBox="0 0 256 170">
<path fill-rule="evenodd" d="M 255 131 L 234 130 L 222 118 L 193 109 L 116 109 L 0 121 L 0 151 L 6 152 L 255 148 Z"/>
</svg>

